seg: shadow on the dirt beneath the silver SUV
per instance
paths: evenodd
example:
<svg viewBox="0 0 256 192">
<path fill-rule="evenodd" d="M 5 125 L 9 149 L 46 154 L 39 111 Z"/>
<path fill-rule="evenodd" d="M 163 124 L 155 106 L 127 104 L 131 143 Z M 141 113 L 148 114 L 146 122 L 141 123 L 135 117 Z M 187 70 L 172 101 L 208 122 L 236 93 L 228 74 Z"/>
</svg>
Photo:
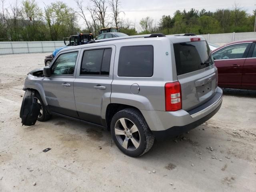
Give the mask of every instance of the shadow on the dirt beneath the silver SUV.
<svg viewBox="0 0 256 192">
<path fill-rule="evenodd" d="M 114 141 L 111 142 L 111 133 L 105 128 L 58 116 L 53 116 L 48 123 L 60 126 L 64 132 L 70 133 L 70 131 L 73 130 L 76 134 L 86 137 L 94 144 L 103 142 L 104 147 L 111 149 L 110 153 L 114 153 L 112 155 L 116 156 L 118 159 L 123 158 L 124 154 L 116 147 Z M 206 126 L 203 127 L 206 128 Z M 199 158 L 196 156 L 202 152 L 200 150 L 201 146 L 204 146 L 207 143 L 207 133 L 202 130 L 203 127 L 198 126 L 194 130 L 191 130 L 189 134 L 184 133 L 180 136 L 168 137 L 164 140 L 155 140 L 154 145 L 149 152 L 138 158 L 131 158 L 130 160 L 134 159 L 138 162 L 144 160 L 146 162 L 151 162 L 152 160 L 157 162 L 159 160 L 158 162 L 166 164 L 165 166 L 168 166 L 167 162 L 170 161 L 169 163 L 174 163 L 178 166 L 179 158 L 185 158 L 185 161 L 186 157 L 188 158 L 187 161 L 190 161 L 192 156 L 194 156 L 194 158 Z M 48 127 L 48 129 L 49 128 L 51 129 L 51 127 Z"/>
</svg>

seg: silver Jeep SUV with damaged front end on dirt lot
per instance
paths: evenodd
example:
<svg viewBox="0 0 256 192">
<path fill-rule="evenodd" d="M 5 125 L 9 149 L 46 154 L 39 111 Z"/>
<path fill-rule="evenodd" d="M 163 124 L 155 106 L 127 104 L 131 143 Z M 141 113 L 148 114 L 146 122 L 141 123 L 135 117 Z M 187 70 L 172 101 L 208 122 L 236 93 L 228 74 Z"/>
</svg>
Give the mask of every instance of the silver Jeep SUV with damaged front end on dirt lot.
<svg viewBox="0 0 256 192">
<path fill-rule="evenodd" d="M 30 72 L 24 90 L 50 115 L 111 131 L 128 156 L 154 139 L 176 136 L 210 119 L 222 104 L 208 43 L 193 34 L 151 34 L 92 41 L 61 50 Z M 26 96 L 24 96 L 24 99 Z"/>
</svg>

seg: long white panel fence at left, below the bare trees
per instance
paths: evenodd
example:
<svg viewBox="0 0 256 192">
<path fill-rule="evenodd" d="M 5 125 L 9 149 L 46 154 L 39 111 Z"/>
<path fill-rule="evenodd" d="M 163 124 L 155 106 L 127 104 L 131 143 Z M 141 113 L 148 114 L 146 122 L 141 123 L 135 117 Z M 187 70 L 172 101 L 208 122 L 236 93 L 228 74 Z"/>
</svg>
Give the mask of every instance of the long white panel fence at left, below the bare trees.
<svg viewBox="0 0 256 192">
<path fill-rule="evenodd" d="M 63 41 L 0 42 L 0 55 L 53 52 Z"/>
</svg>

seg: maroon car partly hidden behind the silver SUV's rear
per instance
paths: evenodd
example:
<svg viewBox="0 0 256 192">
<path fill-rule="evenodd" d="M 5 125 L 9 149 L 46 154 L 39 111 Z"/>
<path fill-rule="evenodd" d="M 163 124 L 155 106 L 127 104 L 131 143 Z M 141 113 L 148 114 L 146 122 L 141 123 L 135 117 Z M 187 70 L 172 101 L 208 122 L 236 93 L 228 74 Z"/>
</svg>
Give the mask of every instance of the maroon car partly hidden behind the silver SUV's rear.
<svg viewBox="0 0 256 192">
<path fill-rule="evenodd" d="M 212 51 L 218 86 L 256 90 L 256 39 L 228 43 Z"/>
</svg>

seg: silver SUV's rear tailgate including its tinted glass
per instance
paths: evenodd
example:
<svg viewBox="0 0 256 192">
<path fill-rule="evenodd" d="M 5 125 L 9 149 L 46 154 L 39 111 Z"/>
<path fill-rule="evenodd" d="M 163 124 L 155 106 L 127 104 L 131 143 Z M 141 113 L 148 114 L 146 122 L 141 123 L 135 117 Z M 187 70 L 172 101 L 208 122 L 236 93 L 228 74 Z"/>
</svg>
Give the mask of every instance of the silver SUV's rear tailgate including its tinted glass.
<svg viewBox="0 0 256 192">
<path fill-rule="evenodd" d="M 192 38 L 193 39 L 193 38 Z M 182 109 L 190 110 L 210 100 L 217 87 L 217 72 L 206 41 L 174 44 Z"/>
</svg>

